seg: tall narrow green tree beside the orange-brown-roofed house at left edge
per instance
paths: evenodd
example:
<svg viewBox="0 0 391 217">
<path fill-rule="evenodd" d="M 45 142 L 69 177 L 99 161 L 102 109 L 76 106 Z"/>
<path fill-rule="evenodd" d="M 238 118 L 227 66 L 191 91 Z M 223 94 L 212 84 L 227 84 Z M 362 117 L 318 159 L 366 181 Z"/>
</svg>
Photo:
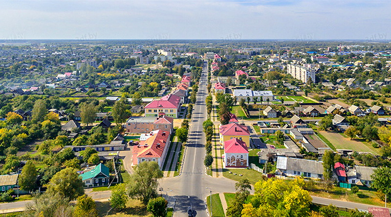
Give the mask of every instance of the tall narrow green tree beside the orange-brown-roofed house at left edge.
<svg viewBox="0 0 391 217">
<path fill-rule="evenodd" d="M 37 169 L 31 160 L 27 160 L 23 166 L 22 173 L 19 176 L 19 186 L 24 191 L 31 191 L 35 188 L 37 182 Z"/>
</svg>

